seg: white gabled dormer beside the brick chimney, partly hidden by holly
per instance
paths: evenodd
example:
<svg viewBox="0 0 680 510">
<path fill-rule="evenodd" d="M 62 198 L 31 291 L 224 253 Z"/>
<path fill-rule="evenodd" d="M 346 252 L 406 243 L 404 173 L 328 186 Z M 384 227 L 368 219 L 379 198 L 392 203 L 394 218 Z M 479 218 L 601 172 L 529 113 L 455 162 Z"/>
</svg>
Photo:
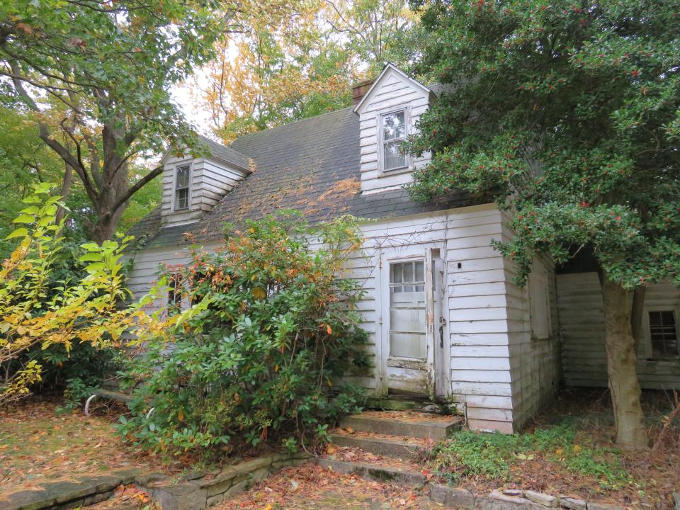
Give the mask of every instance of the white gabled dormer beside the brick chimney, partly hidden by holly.
<svg viewBox="0 0 680 510">
<path fill-rule="evenodd" d="M 364 94 L 365 92 L 365 94 Z M 361 191 L 377 193 L 412 181 L 414 169 L 429 154 L 413 158 L 400 146 L 416 130 L 420 115 L 435 97 L 430 89 L 387 64 L 371 83 L 353 88 L 361 129 Z"/>
</svg>

